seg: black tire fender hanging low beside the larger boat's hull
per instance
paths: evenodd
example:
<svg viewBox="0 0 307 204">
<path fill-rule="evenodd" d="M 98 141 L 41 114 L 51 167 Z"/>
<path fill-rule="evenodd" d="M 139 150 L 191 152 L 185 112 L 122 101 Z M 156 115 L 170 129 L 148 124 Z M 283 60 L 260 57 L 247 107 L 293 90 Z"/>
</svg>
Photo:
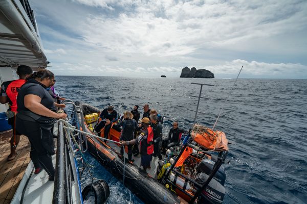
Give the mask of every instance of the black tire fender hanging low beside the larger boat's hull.
<svg viewBox="0 0 307 204">
<path fill-rule="evenodd" d="M 83 200 L 87 195 L 89 195 L 90 192 L 94 192 L 96 204 L 105 202 L 110 195 L 109 186 L 104 180 L 99 180 L 94 182 L 92 185 L 90 184 L 85 186 L 82 191 Z"/>
</svg>

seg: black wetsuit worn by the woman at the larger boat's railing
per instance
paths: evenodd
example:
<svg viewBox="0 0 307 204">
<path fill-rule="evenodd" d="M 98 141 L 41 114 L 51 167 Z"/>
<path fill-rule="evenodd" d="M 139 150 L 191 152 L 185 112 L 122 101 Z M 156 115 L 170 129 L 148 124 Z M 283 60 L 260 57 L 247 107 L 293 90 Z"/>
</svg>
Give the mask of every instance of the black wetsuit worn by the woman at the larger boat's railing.
<svg viewBox="0 0 307 204">
<path fill-rule="evenodd" d="M 38 115 L 27 109 L 24 104 L 24 98 L 29 94 L 39 96 L 41 98 L 41 105 L 51 111 L 55 111 L 53 98 L 46 90 L 46 86 L 34 79 L 30 79 L 20 87 L 18 92 L 16 129 L 29 138 L 31 143 L 30 157 L 33 163 L 39 161 L 43 169 L 51 177 L 54 177 L 55 170 L 51 156 L 55 153 L 53 146 L 53 124 L 56 122 L 56 119 Z"/>
</svg>

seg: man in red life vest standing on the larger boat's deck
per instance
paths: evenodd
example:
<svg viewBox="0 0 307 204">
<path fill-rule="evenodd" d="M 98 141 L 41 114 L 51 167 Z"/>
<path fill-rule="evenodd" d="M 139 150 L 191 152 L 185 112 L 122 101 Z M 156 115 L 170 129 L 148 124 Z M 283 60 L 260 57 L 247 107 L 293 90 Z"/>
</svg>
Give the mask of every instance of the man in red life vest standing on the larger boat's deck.
<svg viewBox="0 0 307 204">
<path fill-rule="evenodd" d="M 17 114 L 16 98 L 18 91 L 22 85 L 25 84 L 26 78 L 33 72 L 31 67 L 20 65 L 17 67 L 17 74 L 19 80 L 4 82 L 0 89 L 0 103 L 9 103 L 10 108 L 6 112 L 8 122 L 12 126 L 13 136 L 11 138 L 11 154 L 8 156 L 7 161 L 11 161 L 16 157 L 16 147 L 19 143 L 20 134 L 15 130 L 15 116 Z M 38 166 L 39 167 L 39 166 Z"/>
</svg>

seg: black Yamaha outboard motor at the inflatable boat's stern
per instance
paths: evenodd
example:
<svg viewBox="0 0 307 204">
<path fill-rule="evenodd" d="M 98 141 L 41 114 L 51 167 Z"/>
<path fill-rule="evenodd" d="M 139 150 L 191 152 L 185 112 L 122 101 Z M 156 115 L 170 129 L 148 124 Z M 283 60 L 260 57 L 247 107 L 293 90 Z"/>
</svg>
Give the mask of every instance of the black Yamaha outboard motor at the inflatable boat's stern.
<svg viewBox="0 0 307 204">
<path fill-rule="evenodd" d="M 203 159 L 197 167 L 199 173 L 196 175 L 195 181 L 201 185 L 206 182 L 213 169 L 213 165 L 214 162 L 211 160 Z M 225 169 L 221 166 L 213 176 L 209 185 L 202 192 L 200 203 L 207 203 L 208 201 L 214 204 L 222 203 L 226 192 L 224 187 L 225 180 Z"/>
</svg>

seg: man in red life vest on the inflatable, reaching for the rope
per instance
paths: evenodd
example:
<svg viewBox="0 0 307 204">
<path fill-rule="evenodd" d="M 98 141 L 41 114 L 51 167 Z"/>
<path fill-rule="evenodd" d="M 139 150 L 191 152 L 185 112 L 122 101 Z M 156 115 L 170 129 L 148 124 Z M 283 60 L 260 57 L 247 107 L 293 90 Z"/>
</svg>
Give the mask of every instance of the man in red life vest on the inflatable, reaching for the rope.
<svg viewBox="0 0 307 204">
<path fill-rule="evenodd" d="M 150 161 L 152 159 L 153 152 L 153 131 L 149 126 L 150 121 L 149 118 L 142 119 L 142 132 L 141 134 L 133 140 L 130 141 L 119 141 L 120 145 L 130 145 L 139 143 L 141 146 L 141 166 L 143 166 L 143 170 L 146 171 L 147 167 L 150 166 Z"/>
</svg>

